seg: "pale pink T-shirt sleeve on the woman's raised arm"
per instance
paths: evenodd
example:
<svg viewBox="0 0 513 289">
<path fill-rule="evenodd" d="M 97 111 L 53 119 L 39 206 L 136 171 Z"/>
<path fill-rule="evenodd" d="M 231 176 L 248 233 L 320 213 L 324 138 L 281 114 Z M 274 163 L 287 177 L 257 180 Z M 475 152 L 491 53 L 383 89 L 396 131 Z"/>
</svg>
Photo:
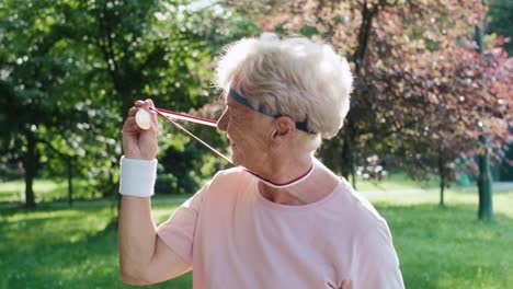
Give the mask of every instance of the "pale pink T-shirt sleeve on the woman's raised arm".
<svg viewBox="0 0 513 289">
<path fill-rule="evenodd" d="M 192 264 L 192 247 L 196 222 L 209 183 L 183 203 L 171 217 L 157 228 L 160 239 L 183 261 Z"/>
</svg>

